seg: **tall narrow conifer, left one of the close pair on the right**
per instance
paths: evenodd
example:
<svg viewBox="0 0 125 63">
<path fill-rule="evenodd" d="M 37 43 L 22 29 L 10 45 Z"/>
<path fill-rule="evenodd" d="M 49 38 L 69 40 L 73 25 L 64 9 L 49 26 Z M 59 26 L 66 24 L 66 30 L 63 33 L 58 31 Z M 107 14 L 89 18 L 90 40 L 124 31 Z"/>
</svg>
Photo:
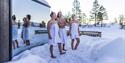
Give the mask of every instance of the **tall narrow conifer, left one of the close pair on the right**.
<svg viewBox="0 0 125 63">
<path fill-rule="evenodd" d="M 93 8 L 90 11 L 90 13 L 91 13 L 90 18 L 95 20 L 95 26 L 97 24 L 97 14 L 98 14 L 99 7 L 100 7 L 100 5 L 98 4 L 98 0 L 95 0 L 93 2 Z"/>
</svg>

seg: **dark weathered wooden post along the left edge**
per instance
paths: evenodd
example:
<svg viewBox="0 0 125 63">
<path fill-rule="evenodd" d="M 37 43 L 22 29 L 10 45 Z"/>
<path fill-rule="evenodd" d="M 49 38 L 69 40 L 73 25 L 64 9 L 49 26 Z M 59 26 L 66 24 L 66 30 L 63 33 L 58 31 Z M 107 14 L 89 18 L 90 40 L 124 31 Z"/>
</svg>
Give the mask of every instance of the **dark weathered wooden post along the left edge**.
<svg viewBox="0 0 125 63">
<path fill-rule="evenodd" d="M 0 63 L 11 60 L 11 0 L 0 0 Z"/>
</svg>

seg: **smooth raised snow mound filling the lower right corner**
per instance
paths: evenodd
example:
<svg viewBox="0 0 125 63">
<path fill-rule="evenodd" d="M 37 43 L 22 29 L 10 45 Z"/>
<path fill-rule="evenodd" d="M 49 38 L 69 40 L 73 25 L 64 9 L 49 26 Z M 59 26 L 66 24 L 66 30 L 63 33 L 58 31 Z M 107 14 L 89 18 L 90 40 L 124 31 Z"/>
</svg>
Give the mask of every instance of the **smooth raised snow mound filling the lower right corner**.
<svg viewBox="0 0 125 63">
<path fill-rule="evenodd" d="M 101 50 L 98 52 L 98 56 L 101 56 L 101 58 L 98 58 L 96 63 L 124 63 L 125 43 L 121 38 L 119 38 L 101 48 Z"/>
</svg>

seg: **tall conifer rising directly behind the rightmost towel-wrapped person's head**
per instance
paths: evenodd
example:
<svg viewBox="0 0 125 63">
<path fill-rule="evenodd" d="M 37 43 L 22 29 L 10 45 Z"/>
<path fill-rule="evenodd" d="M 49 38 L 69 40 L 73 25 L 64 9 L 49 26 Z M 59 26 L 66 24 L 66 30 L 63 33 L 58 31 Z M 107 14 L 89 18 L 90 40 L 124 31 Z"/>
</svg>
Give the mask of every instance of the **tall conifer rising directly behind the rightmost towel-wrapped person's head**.
<svg viewBox="0 0 125 63">
<path fill-rule="evenodd" d="M 81 21 L 80 2 L 78 0 L 74 0 L 72 12 L 78 17 L 79 21 Z"/>
</svg>

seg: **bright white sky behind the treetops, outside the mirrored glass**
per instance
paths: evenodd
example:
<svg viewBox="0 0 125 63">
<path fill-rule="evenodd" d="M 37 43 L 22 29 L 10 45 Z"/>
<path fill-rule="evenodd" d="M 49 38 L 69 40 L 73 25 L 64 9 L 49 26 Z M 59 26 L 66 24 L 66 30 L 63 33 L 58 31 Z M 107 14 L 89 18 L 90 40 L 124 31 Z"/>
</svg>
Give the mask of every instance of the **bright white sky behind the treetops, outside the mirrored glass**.
<svg viewBox="0 0 125 63">
<path fill-rule="evenodd" d="M 69 11 L 72 12 L 72 4 L 74 0 L 46 0 L 51 5 L 51 10 L 58 12 L 62 11 L 63 14 L 67 14 Z M 90 15 L 90 11 L 95 0 L 78 0 L 80 1 L 80 6 L 82 12 L 84 12 L 87 17 Z M 100 5 L 103 5 L 108 11 L 109 20 L 114 20 L 120 14 L 125 15 L 125 0 L 98 0 Z"/>
</svg>

